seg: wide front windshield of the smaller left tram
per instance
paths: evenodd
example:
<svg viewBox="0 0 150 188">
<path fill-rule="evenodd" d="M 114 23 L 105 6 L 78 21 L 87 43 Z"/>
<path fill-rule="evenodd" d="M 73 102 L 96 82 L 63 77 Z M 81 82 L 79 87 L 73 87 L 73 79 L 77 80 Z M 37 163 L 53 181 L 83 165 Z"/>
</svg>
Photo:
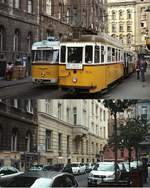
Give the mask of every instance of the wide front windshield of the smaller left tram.
<svg viewBox="0 0 150 188">
<path fill-rule="evenodd" d="M 49 63 L 57 63 L 59 61 L 58 50 L 36 50 L 33 51 L 33 61 L 47 61 Z"/>
</svg>

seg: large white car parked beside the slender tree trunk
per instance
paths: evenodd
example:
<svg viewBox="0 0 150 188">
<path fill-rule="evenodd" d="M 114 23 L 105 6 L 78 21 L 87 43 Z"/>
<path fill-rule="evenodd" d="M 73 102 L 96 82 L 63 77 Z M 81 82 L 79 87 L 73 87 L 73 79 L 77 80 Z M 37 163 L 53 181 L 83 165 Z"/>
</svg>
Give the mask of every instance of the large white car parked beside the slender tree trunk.
<svg viewBox="0 0 150 188">
<path fill-rule="evenodd" d="M 121 171 L 117 165 L 117 179 L 119 180 Z M 88 186 L 100 185 L 104 182 L 113 182 L 115 180 L 115 163 L 114 162 L 99 162 L 88 176 Z"/>
</svg>

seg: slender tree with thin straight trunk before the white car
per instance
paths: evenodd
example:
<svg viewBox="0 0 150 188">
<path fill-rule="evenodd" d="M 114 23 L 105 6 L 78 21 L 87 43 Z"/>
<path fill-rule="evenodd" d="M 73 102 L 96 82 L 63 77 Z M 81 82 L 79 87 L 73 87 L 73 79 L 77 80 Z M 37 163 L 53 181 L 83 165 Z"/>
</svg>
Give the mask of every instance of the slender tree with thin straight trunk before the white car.
<svg viewBox="0 0 150 188">
<path fill-rule="evenodd" d="M 118 151 L 118 140 L 117 140 L 117 113 L 124 112 L 129 106 L 137 103 L 137 100 L 104 100 L 104 106 L 108 108 L 111 115 L 114 116 L 114 154 L 115 154 L 115 182 L 117 182 L 117 151 Z"/>
</svg>

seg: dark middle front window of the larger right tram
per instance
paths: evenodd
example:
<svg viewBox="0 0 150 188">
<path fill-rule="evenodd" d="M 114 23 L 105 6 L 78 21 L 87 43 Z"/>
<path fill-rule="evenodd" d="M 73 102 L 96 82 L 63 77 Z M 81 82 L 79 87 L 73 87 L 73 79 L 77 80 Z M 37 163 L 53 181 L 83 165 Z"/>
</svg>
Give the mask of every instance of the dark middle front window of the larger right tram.
<svg viewBox="0 0 150 188">
<path fill-rule="evenodd" d="M 82 59 L 82 47 L 68 47 L 68 63 L 82 63 Z"/>
</svg>

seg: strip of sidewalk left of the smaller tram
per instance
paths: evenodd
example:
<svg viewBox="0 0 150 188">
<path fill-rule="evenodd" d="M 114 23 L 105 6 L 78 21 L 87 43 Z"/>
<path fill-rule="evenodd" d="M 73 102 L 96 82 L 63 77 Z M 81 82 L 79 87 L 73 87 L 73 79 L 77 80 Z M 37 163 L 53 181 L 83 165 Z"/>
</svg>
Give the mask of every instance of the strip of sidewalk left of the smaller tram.
<svg viewBox="0 0 150 188">
<path fill-rule="evenodd" d="M 0 80 L 0 89 L 5 88 L 5 87 L 9 87 L 9 86 L 31 83 L 31 82 L 32 82 L 31 77 L 26 77 L 26 78 L 21 79 L 21 80 Z"/>
</svg>

